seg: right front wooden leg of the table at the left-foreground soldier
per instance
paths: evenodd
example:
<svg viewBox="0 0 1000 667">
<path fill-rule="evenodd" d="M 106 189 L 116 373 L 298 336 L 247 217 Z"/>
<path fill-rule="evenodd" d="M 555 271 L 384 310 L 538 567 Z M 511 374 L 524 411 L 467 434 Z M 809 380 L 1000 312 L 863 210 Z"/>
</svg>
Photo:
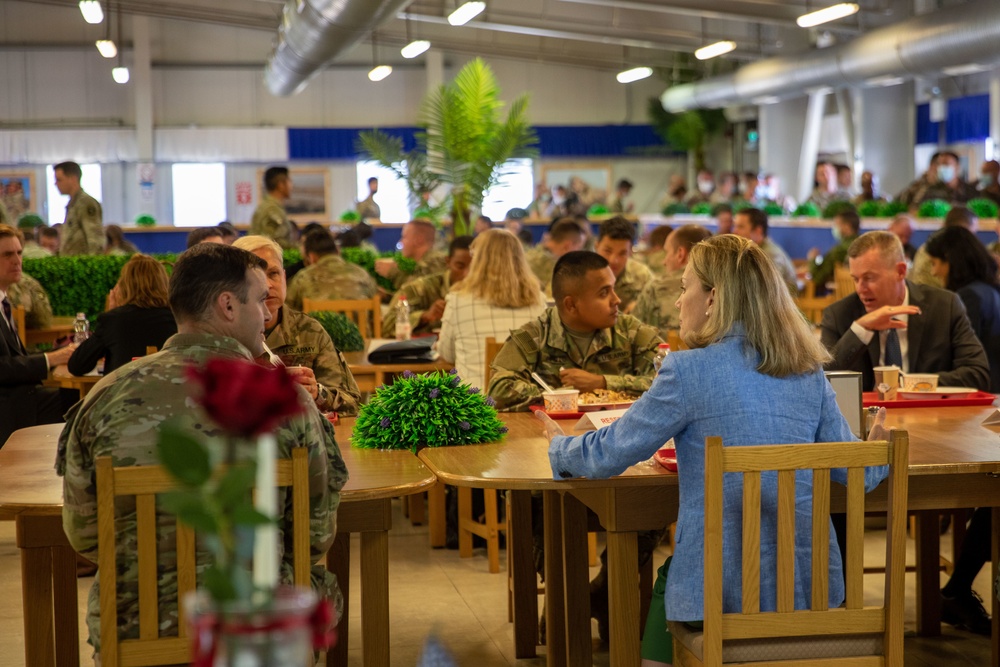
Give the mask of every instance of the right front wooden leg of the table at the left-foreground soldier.
<svg viewBox="0 0 1000 667">
<path fill-rule="evenodd" d="M 361 533 L 361 629 L 365 667 L 389 667 L 389 534 Z"/>
</svg>

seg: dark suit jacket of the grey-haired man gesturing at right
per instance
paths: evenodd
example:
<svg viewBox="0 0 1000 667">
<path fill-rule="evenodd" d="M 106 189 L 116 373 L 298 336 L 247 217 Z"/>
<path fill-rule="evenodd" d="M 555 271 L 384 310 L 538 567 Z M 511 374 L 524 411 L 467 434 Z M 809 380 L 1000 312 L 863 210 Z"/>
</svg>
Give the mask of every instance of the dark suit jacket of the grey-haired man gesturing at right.
<svg viewBox="0 0 1000 667">
<path fill-rule="evenodd" d="M 952 292 L 906 282 L 910 305 L 920 315 L 910 315 L 907 327 L 907 359 L 913 373 L 937 373 L 942 386 L 988 390 L 990 367 L 986 352 L 969 325 L 965 307 Z M 851 331 L 851 324 L 865 314 L 856 294 L 845 297 L 823 311 L 820 325 L 823 344 L 833 355 L 827 370 L 861 371 L 865 391 L 875 388 L 875 366 L 879 362 L 879 338 L 865 345 Z"/>
</svg>

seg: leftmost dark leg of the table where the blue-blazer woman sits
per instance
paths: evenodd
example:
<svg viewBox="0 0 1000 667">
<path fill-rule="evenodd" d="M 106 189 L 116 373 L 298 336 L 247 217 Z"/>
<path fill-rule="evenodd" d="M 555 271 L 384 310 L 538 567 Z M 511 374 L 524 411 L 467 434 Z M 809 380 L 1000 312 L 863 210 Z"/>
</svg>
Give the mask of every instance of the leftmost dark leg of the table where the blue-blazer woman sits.
<svg viewBox="0 0 1000 667">
<path fill-rule="evenodd" d="M 514 657 L 534 658 L 538 645 L 538 575 L 531 538 L 531 492 L 510 491 L 507 559 L 513 579 Z"/>
</svg>

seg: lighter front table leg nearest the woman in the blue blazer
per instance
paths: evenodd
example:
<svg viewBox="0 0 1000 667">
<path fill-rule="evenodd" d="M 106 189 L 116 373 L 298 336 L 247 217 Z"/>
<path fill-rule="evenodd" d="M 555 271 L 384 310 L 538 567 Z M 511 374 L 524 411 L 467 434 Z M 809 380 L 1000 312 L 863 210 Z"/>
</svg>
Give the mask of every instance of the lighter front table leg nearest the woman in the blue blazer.
<svg viewBox="0 0 1000 667">
<path fill-rule="evenodd" d="M 608 531 L 611 667 L 633 667 L 640 661 L 638 562 L 635 532 Z"/>
</svg>

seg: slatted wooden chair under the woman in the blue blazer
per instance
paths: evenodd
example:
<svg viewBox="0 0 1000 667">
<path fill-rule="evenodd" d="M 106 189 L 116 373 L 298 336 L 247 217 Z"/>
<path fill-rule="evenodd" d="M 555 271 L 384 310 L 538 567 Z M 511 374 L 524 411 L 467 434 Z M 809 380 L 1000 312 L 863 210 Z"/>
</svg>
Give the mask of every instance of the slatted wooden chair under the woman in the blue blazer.
<svg viewBox="0 0 1000 667">
<path fill-rule="evenodd" d="M 903 574 L 906 551 L 908 439 L 705 450 L 704 630 L 670 622 L 674 665 L 754 667 L 902 667 Z M 863 602 L 864 466 L 888 465 L 885 597 Z M 846 604 L 828 608 L 830 474 L 848 468 Z M 761 472 L 777 471 L 777 611 L 760 613 Z M 808 610 L 795 610 L 795 471 L 812 470 L 812 590 Z M 723 613 L 723 475 L 743 476 L 742 611 Z M 838 485 L 839 486 L 839 485 Z M 729 564 L 731 568 L 731 564 Z M 727 568 L 729 569 L 729 568 Z M 730 570 L 731 571 L 731 570 Z"/>
</svg>

